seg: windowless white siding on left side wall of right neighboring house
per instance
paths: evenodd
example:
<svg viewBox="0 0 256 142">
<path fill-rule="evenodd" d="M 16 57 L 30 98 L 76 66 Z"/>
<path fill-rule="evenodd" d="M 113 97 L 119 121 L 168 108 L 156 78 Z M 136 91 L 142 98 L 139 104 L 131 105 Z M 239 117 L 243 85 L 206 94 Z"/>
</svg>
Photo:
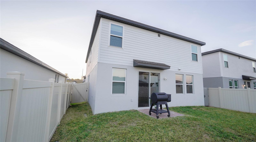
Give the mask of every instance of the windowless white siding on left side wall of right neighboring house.
<svg viewBox="0 0 256 142">
<path fill-rule="evenodd" d="M 219 52 L 202 56 L 203 78 L 220 77 Z"/>
</svg>

